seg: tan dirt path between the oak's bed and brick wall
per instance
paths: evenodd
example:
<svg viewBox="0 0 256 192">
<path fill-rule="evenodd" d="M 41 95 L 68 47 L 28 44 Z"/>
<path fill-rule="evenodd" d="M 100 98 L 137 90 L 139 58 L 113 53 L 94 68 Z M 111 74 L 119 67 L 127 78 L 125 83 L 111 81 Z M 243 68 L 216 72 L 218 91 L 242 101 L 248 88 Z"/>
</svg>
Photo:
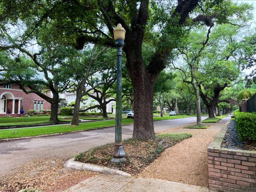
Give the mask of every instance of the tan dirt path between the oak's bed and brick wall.
<svg viewBox="0 0 256 192">
<path fill-rule="evenodd" d="M 192 138 L 166 149 L 138 176 L 208 186 L 207 147 L 228 120 L 230 117 L 225 117 L 208 129 L 171 130 L 170 133 L 191 133 Z"/>
</svg>

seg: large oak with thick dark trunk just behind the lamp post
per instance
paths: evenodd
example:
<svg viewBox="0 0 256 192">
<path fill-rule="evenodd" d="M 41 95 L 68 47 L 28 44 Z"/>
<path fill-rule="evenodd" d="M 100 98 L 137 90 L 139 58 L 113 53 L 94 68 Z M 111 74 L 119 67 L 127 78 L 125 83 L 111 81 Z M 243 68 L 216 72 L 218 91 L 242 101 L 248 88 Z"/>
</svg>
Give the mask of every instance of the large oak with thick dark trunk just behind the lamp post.
<svg viewBox="0 0 256 192">
<path fill-rule="evenodd" d="M 140 139 L 155 138 L 154 83 L 189 27 L 195 23 L 210 26 L 211 20 L 229 22 L 227 18 L 233 14 L 243 15 L 246 11 L 230 0 L 6 0 L 3 5 L 0 21 L 12 17 L 15 22 L 19 18 L 30 24 L 28 35 L 50 23 L 56 40 L 77 49 L 88 42 L 114 47 L 113 28 L 121 23 L 126 30 L 126 67 L 134 89 L 133 138 Z M 144 42 L 154 46 L 148 62 L 142 51 Z"/>
</svg>

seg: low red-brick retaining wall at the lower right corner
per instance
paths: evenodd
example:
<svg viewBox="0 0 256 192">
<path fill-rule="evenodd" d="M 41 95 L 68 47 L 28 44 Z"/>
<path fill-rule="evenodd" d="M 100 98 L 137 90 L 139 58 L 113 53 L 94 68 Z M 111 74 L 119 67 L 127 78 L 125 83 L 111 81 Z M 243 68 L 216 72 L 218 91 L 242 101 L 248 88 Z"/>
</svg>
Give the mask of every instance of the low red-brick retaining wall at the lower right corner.
<svg viewBox="0 0 256 192">
<path fill-rule="evenodd" d="M 222 148 L 227 123 L 208 147 L 209 188 L 220 191 L 256 191 L 256 151 Z"/>
</svg>

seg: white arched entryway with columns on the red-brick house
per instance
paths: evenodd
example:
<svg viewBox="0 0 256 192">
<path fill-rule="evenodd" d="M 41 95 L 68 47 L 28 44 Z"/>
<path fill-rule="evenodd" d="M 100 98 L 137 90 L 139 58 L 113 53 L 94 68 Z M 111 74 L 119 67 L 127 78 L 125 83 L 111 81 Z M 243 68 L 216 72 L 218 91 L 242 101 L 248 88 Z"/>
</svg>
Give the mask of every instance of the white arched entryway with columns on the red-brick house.
<svg viewBox="0 0 256 192">
<path fill-rule="evenodd" d="M 3 92 L 0 95 L 0 114 L 20 114 L 21 100 L 11 92 Z"/>
</svg>

